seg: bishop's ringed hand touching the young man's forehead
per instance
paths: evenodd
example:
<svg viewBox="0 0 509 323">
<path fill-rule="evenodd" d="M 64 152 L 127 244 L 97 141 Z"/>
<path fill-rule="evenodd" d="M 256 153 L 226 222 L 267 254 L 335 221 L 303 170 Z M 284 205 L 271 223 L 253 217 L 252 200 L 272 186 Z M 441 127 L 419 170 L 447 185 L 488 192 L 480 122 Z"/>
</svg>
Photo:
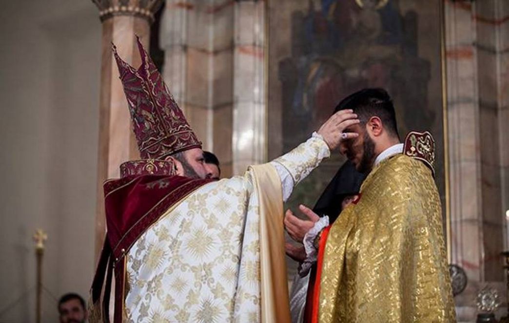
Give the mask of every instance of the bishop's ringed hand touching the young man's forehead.
<svg viewBox="0 0 509 323">
<path fill-rule="evenodd" d="M 353 110 L 346 109 L 334 113 L 317 131 L 323 137 L 329 149 L 335 150 L 341 140 L 352 139 L 359 134 L 355 132 L 344 132 L 348 127 L 358 124 L 357 114 Z"/>
</svg>

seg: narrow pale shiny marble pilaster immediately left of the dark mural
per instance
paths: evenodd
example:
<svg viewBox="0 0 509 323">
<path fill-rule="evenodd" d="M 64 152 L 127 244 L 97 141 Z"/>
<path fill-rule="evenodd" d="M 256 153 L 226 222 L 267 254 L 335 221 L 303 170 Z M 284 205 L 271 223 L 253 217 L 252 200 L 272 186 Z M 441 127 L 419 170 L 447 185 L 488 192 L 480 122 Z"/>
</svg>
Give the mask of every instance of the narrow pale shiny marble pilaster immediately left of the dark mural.
<svg viewBox="0 0 509 323">
<path fill-rule="evenodd" d="M 265 1 L 235 5 L 233 173 L 267 160 Z"/>
</svg>

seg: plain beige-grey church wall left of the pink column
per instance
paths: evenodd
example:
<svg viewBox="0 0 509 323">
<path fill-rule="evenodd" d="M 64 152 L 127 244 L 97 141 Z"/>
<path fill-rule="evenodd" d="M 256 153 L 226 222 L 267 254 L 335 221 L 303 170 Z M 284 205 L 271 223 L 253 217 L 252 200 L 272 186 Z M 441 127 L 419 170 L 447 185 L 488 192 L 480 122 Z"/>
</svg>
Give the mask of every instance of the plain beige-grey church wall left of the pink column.
<svg viewBox="0 0 509 323">
<path fill-rule="evenodd" d="M 0 321 L 35 321 L 32 235 L 48 234 L 43 322 L 88 299 L 94 271 L 101 25 L 91 2 L 8 1 L 0 11 L 4 185 Z"/>
</svg>

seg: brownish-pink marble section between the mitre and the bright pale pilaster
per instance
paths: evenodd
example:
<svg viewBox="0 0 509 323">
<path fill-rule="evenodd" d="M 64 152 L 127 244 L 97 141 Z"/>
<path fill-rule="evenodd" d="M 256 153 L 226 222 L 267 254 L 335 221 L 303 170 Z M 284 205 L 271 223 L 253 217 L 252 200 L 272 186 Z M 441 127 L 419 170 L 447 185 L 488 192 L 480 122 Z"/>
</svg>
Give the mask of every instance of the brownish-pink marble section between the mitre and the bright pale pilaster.
<svg viewBox="0 0 509 323">
<path fill-rule="evenodd" d="M 230 0 L 166 1 L 163 77 L 203 142 L 232 175 L 233 25 Z"/>
</svg>

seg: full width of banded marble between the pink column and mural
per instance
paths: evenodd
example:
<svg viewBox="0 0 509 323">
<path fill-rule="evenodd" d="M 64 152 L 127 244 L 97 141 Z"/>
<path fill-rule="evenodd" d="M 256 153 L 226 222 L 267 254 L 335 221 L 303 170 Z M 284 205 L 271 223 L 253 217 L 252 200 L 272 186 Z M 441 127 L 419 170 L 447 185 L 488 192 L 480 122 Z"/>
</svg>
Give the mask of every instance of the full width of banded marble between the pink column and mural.
<svg viewBox="0 0 509 323">
<path fill-rule="evenodd" d="M 166 1 L 163 76 L 223 177 L 267 158 L 265 4 Z"/>
</svg>

